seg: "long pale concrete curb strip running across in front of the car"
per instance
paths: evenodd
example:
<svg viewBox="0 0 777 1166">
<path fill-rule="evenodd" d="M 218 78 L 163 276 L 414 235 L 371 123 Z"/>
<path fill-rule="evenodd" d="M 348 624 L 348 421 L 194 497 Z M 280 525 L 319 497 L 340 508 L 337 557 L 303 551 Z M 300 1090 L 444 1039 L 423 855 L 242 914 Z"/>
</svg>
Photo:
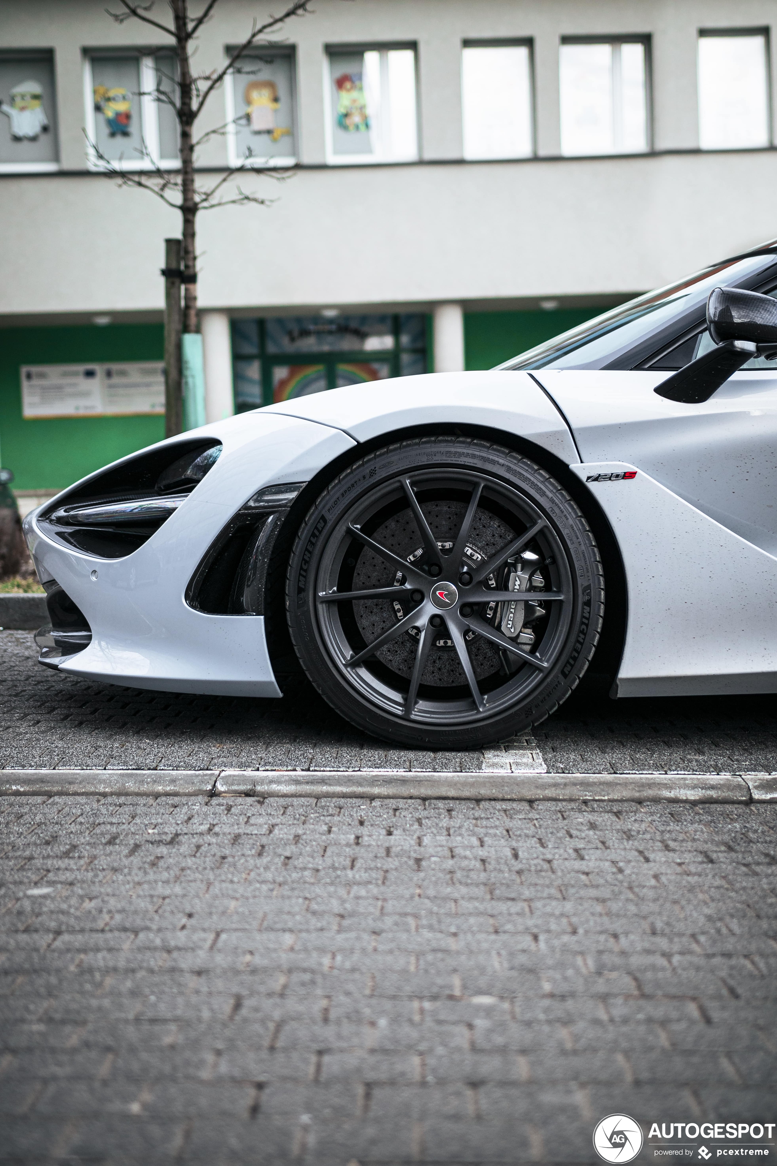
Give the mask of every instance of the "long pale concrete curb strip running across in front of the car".
<svg viewBox="0 0 777 1166">
<path fill-rule="evenodd" d="M 473 801 L 777 801 L 777 774 L 0 770 L 0 796 L 417 798 Z"/>
</svg>

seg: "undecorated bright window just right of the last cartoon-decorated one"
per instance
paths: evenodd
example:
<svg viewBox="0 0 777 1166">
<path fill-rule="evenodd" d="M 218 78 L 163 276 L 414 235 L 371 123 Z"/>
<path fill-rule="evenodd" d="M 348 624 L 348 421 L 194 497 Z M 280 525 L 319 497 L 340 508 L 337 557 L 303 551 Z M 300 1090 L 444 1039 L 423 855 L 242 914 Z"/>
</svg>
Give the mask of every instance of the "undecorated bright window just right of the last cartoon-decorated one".
<svg viewBox="0 0 777 1166">
<path fill-rule="evenodd" d="M 465 44 L 461 54 L 464 156 L 529 157 L 534 152 L 528 44 Z"/>
</svg>

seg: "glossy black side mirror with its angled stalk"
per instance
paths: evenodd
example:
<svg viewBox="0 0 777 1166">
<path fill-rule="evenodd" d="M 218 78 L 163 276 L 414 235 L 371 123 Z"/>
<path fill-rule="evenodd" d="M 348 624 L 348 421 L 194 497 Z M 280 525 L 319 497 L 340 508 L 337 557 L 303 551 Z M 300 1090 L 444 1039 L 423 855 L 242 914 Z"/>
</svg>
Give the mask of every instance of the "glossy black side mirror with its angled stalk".
<svg viewBox="0 0 777 1166">
<path fill-rule="evenodd" d="M 701 405 L 753 357 L 777 357 L 777 300 L 771 296 L 713 288 L 707 328 L 716 347 L 663 380 L 654 389 L 658 396 Z"/>
</svg>

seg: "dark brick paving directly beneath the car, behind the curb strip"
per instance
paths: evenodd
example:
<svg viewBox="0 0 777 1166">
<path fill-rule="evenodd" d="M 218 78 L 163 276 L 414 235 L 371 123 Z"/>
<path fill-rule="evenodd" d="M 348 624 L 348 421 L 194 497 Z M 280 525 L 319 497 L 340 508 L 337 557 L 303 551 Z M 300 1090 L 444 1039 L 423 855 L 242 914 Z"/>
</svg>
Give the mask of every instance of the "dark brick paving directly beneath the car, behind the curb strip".
<svg viewBox="0 0 777 1166">
<path fill-rule="evenodd" d="M 556 773 L 777 772 L 777 697 L 610 701 L 579 691 L 535 731 Z M 482 754 L 390 749 L 304 682 L 283 701 L 178 696 L 41 668 L 28 632 L 0 632 L 0 768 L 476 771 Z"/>
</svg>

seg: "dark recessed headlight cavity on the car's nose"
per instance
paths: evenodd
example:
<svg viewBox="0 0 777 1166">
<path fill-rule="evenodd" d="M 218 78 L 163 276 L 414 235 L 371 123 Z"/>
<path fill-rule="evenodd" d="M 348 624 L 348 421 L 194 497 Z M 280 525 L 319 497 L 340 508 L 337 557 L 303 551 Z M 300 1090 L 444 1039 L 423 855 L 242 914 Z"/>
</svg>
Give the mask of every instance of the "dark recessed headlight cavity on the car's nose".
<svg viewBox="0 0 777 1166">
<path fill-rule="evenodd" d="M 87 555 L 122 559 L 167 522 L 220 452 L 219 442 L 198 441 L 141 454 L 57 499 L 38 525 Z"/>
</svg>

